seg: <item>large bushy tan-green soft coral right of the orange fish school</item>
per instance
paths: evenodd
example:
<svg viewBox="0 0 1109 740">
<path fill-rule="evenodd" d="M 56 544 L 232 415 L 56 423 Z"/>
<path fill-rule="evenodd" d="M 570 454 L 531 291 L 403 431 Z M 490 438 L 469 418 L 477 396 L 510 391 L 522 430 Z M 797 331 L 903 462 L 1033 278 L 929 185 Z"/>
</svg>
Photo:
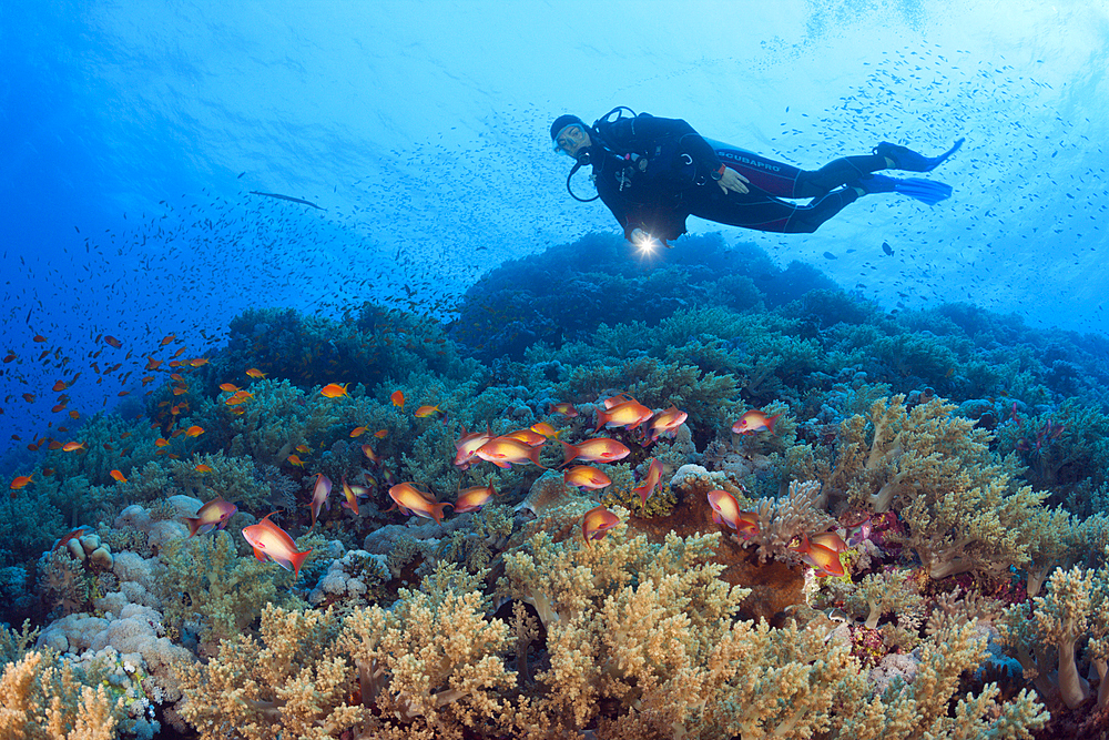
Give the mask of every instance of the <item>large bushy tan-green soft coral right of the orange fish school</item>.
<svg viewBox="0 0 1109 740">
<path fill-rule="evenodd" d="M 1018 487 L 1011 462 L 989 449 L 989 433 L 955 406 L 905 397 L 875 402 L 868 418 L 841 425 L 835 469 L 826 481 L 853 504 L 894 507 L 908 525 L 906 544 L 933 578 L 1022 567 L 1059 548 L 1057 517 L 1042 515 L 1047 494 Z"/>
</svg>

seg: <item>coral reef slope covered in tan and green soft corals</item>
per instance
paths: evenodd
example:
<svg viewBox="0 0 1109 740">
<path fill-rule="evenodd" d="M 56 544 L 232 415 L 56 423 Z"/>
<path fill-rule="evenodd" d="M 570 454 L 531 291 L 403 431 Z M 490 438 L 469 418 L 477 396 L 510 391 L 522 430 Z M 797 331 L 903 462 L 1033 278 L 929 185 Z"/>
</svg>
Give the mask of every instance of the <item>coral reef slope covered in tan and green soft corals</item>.
<svg viewBox="0 0 1109 740">
<path fill-rule="evenodd" d="M 0 617 L 23 624 L 0 631 L 0 737 L 1103 731 L 1109 348 L 688 246 L 506 263 L 449 325 L 252 310 L 204 357 L 151 353 L 135 418 L 74 424 L 78 449 L 35 435 L 0 506 Z M 594 432 L 621 394 L 688 416 Z M 751 409 L 775 428 L 733 434 Z M 456 463 L 475 430 L 550 469 Z M 598 435 L 629 450 L 597 463 L 612 484 L 567 486 L 559 443 Z M 430 523 L 401 481 L 496 497 Z M 714 523 L 718 489 L 756 524 Z M 216 496 L 238 513 L 189 537 Z M 618 524 L 587 544 L 598 506 Z M 240 535 L 274 509 L 313 550 L 298 579 Z M 841 577 L 796 553 L 833 531 Z"/>
</svg>

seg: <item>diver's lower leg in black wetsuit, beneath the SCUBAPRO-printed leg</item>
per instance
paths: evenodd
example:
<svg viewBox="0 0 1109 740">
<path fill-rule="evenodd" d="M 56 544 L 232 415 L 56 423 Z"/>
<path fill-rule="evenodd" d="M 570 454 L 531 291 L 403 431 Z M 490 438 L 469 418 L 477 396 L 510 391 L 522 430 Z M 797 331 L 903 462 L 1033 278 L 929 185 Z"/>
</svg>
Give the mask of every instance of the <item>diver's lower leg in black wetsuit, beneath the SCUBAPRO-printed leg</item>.
<svg viewBox="0 0 1109 740">
<path fill-rule="evenodd" d="M 692 215 L 730 226 L 784 234 L 811 234 L 858 197 L 858 191 L 854 187 L 834 190 L 808 205 L 794 205 L 755 192 L 728 195 L 712 193 L 700 202 L 690 203 L 689 210 Z"/>
</svg>

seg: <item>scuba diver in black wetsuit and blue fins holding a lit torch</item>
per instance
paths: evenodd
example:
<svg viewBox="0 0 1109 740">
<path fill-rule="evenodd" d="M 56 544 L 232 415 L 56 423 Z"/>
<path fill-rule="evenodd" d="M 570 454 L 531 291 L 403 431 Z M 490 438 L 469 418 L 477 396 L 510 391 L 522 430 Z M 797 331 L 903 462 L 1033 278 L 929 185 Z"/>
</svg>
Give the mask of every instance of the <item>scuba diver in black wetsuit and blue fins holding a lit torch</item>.
<svg viewBox="0 0 1109 740">
<path fill-rule="evenodd" d="M 949 185 L 874 173 L 930 172 L 964 140 L 939 156 L 884 141 L 873 154 L 801 170 L 704 139 L 681 119 L 637 115 L 621 105 L 591 126 L 577 115 L 560 115 L 551 124 L 551 141 L 556 152 L 576 160 L 566 179 L 570 195 L 583 203 L 600 197 L 623 226 L 624 239 L 650 249 L 655 239 L 672 246 L 670 240 L 685 233 L 690 215 L 756 231 L 807 234 L 871 193 L 901 193 L 935 205 L 950 196 Z M 588 199 L 571 187 L 571 179 L 587 164 L 593 168 L 597 186 L 597 195 Z M 782 199 L 813 200 L 798 205 Z"/>
</svg>

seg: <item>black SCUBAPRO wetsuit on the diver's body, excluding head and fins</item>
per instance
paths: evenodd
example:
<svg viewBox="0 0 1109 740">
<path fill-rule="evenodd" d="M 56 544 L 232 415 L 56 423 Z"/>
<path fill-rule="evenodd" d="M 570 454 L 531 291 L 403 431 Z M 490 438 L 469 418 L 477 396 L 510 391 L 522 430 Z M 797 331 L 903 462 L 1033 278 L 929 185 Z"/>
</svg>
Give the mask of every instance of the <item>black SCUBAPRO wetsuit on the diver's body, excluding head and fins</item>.
<svg viewBox="0 0 1109 740">
<path fill-rule="evenodd" d="M 854 202 L 853 187 L 833 190 L 884 170 L 884 156 L 845 156 L 801 170 L 741 149 L 710 142 L 681 119 L 643 113 L 602 123 L 588 150 L 601 200 L 631 239 L 634 229 L 678 239 L 685 219 L 784 233 L 812 233 Z M 747 193 L 725 193 L 711 173 L 726 164 L 750 180 Z M 812 197 L 807 205 L 782 197 Z"/>
</svg>

